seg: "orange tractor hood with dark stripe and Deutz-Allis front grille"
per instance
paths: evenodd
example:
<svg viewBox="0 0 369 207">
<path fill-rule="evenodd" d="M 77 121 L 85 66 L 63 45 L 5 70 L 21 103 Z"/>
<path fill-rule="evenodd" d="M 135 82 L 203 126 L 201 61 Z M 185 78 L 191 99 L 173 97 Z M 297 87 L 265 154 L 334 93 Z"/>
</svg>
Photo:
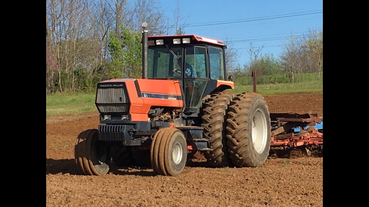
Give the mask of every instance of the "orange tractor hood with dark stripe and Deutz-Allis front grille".
<svg viewBox="0 0 369 207">
<path fill-rule="evenodd" d="M 101 114 L 130 113 L 131 120 L 148 120 L 152 106 L 182 108 L 178 80 L 118 78 L 97 84 L 96 106 Z"/>
</svg>

